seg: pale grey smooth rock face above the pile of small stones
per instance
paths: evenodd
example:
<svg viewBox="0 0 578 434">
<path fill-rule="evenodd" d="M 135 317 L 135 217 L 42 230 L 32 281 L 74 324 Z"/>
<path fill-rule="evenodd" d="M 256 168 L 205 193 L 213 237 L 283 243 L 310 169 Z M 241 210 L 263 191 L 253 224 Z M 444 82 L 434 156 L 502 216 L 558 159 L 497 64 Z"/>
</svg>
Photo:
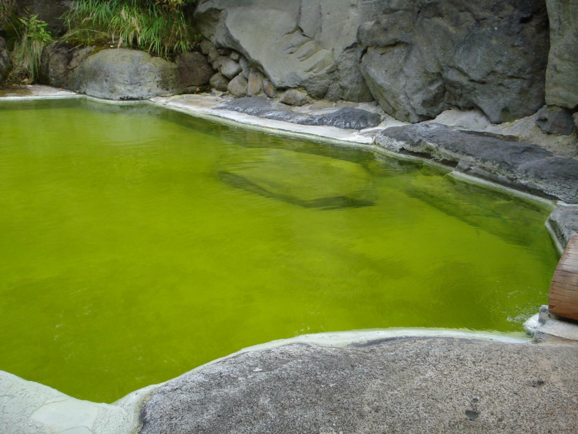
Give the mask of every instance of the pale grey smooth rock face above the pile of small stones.
<svg viewBox="0 0 578 434">
<path fill-rule="evenodd" d="M 275 87 L 304 87 L 314 98 L 372 101 L 356 35 L 382 9 L 383 0 L 204 0 L 195 18 L 206 38 L 242 54 Z"/>
</svg>

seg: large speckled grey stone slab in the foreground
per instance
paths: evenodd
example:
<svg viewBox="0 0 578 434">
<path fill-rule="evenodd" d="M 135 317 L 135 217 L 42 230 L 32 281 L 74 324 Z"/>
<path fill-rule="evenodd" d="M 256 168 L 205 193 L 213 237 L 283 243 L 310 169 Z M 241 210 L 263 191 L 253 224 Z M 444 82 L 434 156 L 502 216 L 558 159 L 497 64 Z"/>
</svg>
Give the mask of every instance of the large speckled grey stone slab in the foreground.
<svg viewBox="0 0 578 434">
<path fill-rule="evenodd" d="M 577 389 L 574 345 L 291 344 L 167 382 L 144 404 L 140 433 L 570 432 Z"/>
</svg>

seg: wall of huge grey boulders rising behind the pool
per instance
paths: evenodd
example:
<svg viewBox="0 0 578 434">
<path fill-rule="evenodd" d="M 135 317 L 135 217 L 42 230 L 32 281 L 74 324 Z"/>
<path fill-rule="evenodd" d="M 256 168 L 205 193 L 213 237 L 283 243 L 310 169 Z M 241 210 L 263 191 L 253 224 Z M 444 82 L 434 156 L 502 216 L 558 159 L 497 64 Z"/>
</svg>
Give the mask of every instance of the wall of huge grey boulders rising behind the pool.
<svg viewBox="0 0 578 434">
<path fill-rule="evenodd" d="M 565 127 L 544 126 L 559 122 L 549 108 L 541 127 L 566 134 L 578 104 L 577 9 L 556 0 L 201 0 L 195 19 L 215 69 L 231 50 L 239 56 L 236 96 L 250 94 L 254 71 L 260 92 L 375 98 L 412 123 L 451 107 L 510 122 L 548 102 L 565 108 Z M 214 76 L 214 87 L 228 90 L 232 78 Z"/>
</svg>

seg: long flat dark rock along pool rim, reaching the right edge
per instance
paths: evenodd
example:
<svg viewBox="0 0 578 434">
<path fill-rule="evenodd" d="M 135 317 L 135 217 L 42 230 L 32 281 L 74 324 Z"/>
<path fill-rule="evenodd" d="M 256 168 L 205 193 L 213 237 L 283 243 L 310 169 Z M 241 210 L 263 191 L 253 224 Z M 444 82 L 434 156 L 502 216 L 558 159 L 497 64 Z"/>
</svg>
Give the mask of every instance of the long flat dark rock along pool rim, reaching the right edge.
<svg viewBox="0 0 578 434">
<path fill-rule="evenodd" d="M 555 157 L 541 146 L 451 130 L 436 124 L 386 128 L 378 145 L 425 156 L 455 170 L 549 198 L 578 203 L 578 160 Z"/>
</svg>

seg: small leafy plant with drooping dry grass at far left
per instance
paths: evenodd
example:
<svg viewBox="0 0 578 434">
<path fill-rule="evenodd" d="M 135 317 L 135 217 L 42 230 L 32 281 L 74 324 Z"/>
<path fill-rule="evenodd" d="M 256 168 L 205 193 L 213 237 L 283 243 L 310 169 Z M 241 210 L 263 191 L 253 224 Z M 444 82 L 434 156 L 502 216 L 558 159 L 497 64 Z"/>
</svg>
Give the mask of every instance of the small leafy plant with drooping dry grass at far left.
<svg viewBox="0 0 578 434">
<path fill-rule="evenodd" d="M 21 39 L 14 43 L 12 50 L 12 71 L 9 81 L 23 81 L 32 83 L 40 72 L 42 50 L 52 41 L 50 32 L 46 30 L 46 23 L 38 19 L 38 15 L 29 15 L 19 18 L 23 25 Z"/>
</svg>

